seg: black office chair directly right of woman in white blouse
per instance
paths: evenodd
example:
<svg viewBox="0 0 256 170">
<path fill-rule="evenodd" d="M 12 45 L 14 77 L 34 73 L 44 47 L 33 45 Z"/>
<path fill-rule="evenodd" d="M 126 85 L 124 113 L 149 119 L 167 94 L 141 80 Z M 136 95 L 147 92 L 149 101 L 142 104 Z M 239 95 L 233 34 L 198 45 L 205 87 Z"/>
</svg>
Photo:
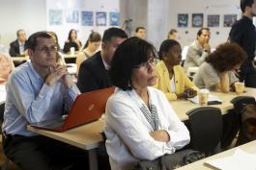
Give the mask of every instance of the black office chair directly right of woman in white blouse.
<svg viewBox="0 0 256 170">
<path fill-rule="evenodd" d="M 211 156 L 220 152 L 221 110 L 213 107 L 191 109 L 188 115 L 192 149 Z"/>
</svg>

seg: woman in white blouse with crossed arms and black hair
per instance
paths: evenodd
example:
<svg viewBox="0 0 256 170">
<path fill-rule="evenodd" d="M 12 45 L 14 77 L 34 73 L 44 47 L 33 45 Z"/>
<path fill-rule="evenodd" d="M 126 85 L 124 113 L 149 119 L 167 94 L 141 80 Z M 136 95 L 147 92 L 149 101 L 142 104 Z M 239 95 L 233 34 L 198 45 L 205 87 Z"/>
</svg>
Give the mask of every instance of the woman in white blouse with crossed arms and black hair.
<svg viewBox="0 0 256 170">
<path fill-rule="evenodd" d="M 118 46 L 110 68 L 117 86 L 105 115 L 106 150 L 112 170 L 131 170 L 140 160 L 173 154 L 189 133 L 156 84 L 155 48 L 131 37 Z"/>
</svg>

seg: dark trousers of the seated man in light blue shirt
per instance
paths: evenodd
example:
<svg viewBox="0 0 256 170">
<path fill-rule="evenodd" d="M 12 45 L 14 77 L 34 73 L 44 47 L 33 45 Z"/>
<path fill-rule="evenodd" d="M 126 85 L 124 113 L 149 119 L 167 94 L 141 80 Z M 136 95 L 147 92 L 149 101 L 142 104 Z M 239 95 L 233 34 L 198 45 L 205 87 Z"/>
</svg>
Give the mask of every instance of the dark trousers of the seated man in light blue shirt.
<svg viewBox="0 0 256 170">
<path fill-rule="evenodd" d="M 84 150 L 42 135 L 3 135 L 3 148 L 7 158 L 24 170 L 89 169 Z"/>
</svg>

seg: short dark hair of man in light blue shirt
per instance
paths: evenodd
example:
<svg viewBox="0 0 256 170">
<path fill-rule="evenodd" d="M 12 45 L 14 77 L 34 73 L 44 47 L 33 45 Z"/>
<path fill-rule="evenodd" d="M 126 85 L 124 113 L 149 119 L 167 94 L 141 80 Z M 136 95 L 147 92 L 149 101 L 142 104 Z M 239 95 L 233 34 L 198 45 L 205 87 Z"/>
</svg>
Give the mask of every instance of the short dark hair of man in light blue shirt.
<svg viewBox="0 0 256 170">
<path fill-rule="evenodd" d="M 35 51 L 35 49 L 38 45 L 38 38 L 39 37 L 52 38 L 53 39 L 53 37 L 50 34 L 48 34 L 47 32 L 37 32 L 37 33 L 34 33 L 33 35 L 28 37 L 28 41 L 26 43 L 26 48 L 29 48 L 29 49 Z"/>
</svg>

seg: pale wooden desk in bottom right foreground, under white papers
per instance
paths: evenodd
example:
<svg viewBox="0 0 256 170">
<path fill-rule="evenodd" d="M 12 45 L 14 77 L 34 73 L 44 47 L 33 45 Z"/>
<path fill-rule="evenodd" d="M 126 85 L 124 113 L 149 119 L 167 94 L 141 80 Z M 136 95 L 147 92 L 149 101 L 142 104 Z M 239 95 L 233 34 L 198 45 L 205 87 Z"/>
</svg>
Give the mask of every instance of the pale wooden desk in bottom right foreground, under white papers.
<svg viewBox="0 0 256 170">
<path fill-rule="evenodd" d="M 251 141 L 251 142 L 246 143 L 246 144 L 243 144 L 239 147 L 227 150 L 225 152 L 216 154 L 212 157 L 204 158 L 202 160 L 199 160 L 199 161 L 193 162 L 191 164 L 185 165 L 181 168 L 178 168 L 177 170 L 192 170 L 192 169 L 198 169 L 198 170 L 211 170 L 212 169 L 213 170 L 214 169 L 213 167 L 211 167 L 208 164 L 205 164 L 206 160 L 213 160 L 213 159 L 216 159 L 216 158 L 225 158 L 225 157 L 232 156 L 237 148 L 240 148 L 243 151 L 245 151 L 247 153 L 250 153 L 250 154 L 256 154 L 256 140 Z"/>
</svg>

